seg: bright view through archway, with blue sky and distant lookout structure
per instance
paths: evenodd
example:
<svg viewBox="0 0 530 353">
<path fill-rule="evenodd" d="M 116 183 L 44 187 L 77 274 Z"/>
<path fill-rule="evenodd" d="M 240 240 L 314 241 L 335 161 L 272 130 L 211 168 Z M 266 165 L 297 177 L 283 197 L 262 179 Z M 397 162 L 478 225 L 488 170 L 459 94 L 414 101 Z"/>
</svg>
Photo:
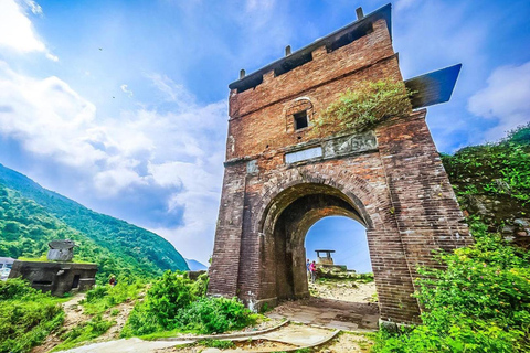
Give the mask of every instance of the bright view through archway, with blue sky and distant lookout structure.
<svg viewBox="0 0 530 353">
<path fill-rule="evenodd" d="M 324 217 L 309 228 L 305 247 L 306 258 L 317 267 L 315 281 L 308 276 L 310 300 L 305 306 L 327 317 L 341 310 L 337 317 L 356 321 L 354 328 L 373 329 L 379 306 L 365 227 L 344 216 Z"/>
</svg>

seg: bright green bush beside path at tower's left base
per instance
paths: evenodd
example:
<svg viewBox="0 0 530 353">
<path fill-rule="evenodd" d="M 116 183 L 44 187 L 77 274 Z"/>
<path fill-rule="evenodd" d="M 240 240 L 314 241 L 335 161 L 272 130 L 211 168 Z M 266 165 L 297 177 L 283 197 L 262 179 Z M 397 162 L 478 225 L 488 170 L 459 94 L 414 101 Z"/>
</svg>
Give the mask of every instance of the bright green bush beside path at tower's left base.
<svg viewBox="0 0 530 353">
<path fill-rule="evenodd" d="M 255 321 L 236 299 L 205 298 L 204 278 L 193 282 L 180 272 L 167 271 L 152 284 L 146 299 L 129 315 L 123 336 L 162 331 L 221 333 Z"/>
</svg>

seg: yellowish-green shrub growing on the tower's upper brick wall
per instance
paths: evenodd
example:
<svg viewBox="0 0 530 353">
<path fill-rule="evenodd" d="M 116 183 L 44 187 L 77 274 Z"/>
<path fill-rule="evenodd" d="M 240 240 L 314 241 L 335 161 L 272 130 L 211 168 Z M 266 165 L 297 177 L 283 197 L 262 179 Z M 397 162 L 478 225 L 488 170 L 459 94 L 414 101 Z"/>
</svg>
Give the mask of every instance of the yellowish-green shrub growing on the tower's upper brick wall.
<svg viewBox="0 0 530 353">
<path fill-rule="evenodd" d="M 360 83 L 333 101 L 316 119 L 316 131 L 364 131 L 391 117 L 402 117 L 412 111 L 410 96 L 402 82 L 383 79 Z"/>
</svg>

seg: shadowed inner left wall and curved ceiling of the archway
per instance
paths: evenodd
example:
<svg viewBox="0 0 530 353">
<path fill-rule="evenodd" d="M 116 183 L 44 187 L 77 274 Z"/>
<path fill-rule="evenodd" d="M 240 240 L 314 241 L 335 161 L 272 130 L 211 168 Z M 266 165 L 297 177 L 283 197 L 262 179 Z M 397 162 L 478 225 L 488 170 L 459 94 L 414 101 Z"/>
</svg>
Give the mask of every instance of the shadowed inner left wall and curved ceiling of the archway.
<svg viewBox="0 0 530 353">
<path fill-rule="evenodd" d="M 305 239 L 309 228 L 327 216 L 344 216 L 364 227 L 370 220 L 354 195 L 326 184 L 301 183 L 279 193 L 262 224 L 261 281 L 268 298 L 309 297 Z M 267 298 L 265 297 L 265 298 Z"/>
</svg>

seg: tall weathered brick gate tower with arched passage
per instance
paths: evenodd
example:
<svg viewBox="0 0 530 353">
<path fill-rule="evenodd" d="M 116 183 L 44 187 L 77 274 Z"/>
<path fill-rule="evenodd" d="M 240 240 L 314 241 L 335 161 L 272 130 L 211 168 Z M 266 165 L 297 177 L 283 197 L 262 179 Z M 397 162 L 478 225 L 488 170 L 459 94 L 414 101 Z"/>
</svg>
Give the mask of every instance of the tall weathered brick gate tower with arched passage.
<svg viewBox="0 0 530 353">
<path fill-rule="evenodd" d="M 329 215 L 367 228 L 381 320 L 416 322 L 417 265 L 469 244 L 467 226 L 425 124 L 460 65 L 422 75 L 406 117 L 362 133 L 311 133 L 316 118 L 360 82 L 403 82 L 391 6 L 230 85 L 224 181 L 210 295 L 251 308 L 309 296 L 304 239 Z"/>
</svg>

